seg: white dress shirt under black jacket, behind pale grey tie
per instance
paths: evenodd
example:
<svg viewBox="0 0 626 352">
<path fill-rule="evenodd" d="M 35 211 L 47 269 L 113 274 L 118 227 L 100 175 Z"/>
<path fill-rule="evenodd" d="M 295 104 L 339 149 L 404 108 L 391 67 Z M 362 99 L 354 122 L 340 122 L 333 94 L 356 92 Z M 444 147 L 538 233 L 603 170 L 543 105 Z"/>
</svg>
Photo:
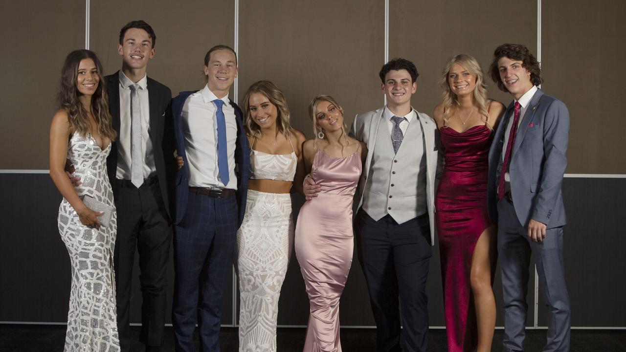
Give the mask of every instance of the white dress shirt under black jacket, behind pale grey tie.
<svg viewBox="0 0 626 352">
<path fill-rule="evenodd" d="M 118 167 L 115 177 L 120 180 L 130 180 L 130 85 L 131 81 L 120 70 L 120 142 L 118 143 Z M 148 76 L 143 76 L 137 82 L 139 85 L 139 100 L 141 108 L 141 150 L 143 151 L 143 178 L 156 174 L 155 157 L 152 152 L 150 139 L 150 101 L 148 100 Z"/>
</svg>

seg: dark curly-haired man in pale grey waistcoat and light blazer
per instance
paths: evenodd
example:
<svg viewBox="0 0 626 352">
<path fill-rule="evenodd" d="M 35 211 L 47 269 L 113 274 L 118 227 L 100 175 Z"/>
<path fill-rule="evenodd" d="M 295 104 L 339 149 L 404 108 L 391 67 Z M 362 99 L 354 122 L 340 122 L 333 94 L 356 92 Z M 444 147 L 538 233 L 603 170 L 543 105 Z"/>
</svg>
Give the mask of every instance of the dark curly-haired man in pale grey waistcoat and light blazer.
<svg viewBox="0 0 626 352">
<path fill-rule="evenodd" d="M 376 350 L 426 351 L 439 132 L 411 106 L 418 77 L 411 61 L 391 60 L 379 76 L 387 105 L 356 115 L 350 131 L 368 149 L 354 224 L 357 251 L 376 319 Z"/>
</svg>

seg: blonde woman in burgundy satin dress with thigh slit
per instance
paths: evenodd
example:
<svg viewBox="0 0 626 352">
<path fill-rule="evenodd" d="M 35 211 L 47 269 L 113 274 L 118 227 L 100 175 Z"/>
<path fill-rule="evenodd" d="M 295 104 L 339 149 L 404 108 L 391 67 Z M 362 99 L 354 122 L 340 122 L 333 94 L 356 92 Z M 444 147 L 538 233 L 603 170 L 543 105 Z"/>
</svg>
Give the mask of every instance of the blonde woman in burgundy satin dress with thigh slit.
<svg viewBox="0 0 626 352">
<path fill-rule="evenodd" d="M 448 351 L 491 351 L 496 323 L 496 224 L 487 212 L 487 155 L 505 110 L 487 99 L 483 72 L 468 54 L 449 60 L 434 119 L 445 165 L 436 192 Z"/>
</svg>

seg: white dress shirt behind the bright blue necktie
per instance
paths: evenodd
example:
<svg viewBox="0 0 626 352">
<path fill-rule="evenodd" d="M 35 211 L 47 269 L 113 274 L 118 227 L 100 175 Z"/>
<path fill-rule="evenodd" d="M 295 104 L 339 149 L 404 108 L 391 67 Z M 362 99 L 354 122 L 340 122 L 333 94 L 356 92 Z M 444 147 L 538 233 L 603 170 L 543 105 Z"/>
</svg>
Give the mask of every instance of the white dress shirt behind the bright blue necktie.
<svg viewBox="0 0 626 352">
<path fill-rule="evenodd" d="M 190 95 L 183 105 L 183 134 L 189 167 L 189 185 L 210 189 L 237 189 L 235 175 L 235 147 L 237 143 L 237 121 L 235 108 L 230 105 L 228 95 L 222 111 L 226 121 L 228 148 L 228 184 L 220 180 L 217 167 L 217 106 L 213 103 L 217 96 L 204 86 L 203 90 Z"/>
</svg>

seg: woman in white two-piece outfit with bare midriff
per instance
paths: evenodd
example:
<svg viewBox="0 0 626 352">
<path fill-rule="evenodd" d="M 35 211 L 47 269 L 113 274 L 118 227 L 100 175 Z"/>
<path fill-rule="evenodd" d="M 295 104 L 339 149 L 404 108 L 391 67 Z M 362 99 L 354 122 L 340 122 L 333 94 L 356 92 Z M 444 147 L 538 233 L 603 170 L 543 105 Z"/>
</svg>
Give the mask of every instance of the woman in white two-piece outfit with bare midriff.
<svg viewBox="0 0 626 352">
<path fill-rule="evenodd" d="M 244 222 L 237 231 L 239 351 L 276 351 L 280 287 L 294 240 L 290 189 L 302 185 L 302 132 L 289 125 L 282 92 L 259 81 L 244 98 L 250 180 Z"/>
</svg>

